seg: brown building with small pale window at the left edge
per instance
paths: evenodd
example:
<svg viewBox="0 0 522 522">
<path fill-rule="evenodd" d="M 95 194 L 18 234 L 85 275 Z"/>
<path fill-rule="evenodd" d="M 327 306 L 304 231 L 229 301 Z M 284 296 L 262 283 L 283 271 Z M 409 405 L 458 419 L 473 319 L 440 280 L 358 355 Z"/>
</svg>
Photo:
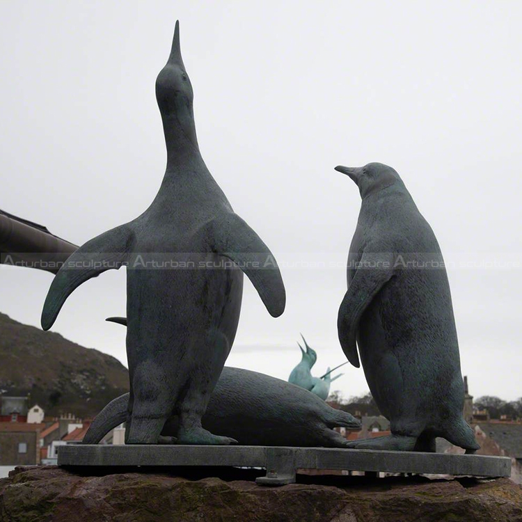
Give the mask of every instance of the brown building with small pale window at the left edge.
<svg viewBox="0 0 522 522">
<path fill-rule="evenodd" d="M 40 432 L 45 424 L 0 422 L 0 466 L 40 464 Z"/>
</svg>

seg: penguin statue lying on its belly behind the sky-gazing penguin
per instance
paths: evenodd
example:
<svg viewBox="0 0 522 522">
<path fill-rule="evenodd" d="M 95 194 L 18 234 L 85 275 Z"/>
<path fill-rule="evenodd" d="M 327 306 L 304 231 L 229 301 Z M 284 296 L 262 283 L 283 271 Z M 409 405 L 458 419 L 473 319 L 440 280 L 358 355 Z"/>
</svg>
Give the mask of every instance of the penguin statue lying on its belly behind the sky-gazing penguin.
<svg viewBox="0 0 522 522">
<path fill-rule="evenodd" d="M 84 444 L 97 444 L 125 422 L 129 394 L 116 398 L 98 413 Z M 162 442 L 179 433 L 180 418 L 167 420 Z M 361 429 L 349 413 L 333 409 L 319 397 L 269 375 L 225 366 L 212 392 L 203 427 L 233 436 L 243 445 L 346 448 L 348 441 L 335 427 Z"/>
</svg>

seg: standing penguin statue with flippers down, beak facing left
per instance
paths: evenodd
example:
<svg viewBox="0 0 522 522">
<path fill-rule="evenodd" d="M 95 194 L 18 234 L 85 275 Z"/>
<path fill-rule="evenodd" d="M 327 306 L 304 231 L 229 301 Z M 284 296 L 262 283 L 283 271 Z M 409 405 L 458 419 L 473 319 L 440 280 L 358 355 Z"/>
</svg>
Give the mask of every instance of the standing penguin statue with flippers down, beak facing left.
<svg viewBox="0 0 522 522">
<path fill-rule="evenodd" d="M 397 172 L 379 163 L 335 167 L 362 205 L 348 258 L 348 290 L 338 315 L 343 351 L 359 366 L 390 436 L 349 447 L 434 451 L 440 436 L 475 452 L 462 415 L 464 383 L 450 285 L 432 228 Z"/>
</svg>

